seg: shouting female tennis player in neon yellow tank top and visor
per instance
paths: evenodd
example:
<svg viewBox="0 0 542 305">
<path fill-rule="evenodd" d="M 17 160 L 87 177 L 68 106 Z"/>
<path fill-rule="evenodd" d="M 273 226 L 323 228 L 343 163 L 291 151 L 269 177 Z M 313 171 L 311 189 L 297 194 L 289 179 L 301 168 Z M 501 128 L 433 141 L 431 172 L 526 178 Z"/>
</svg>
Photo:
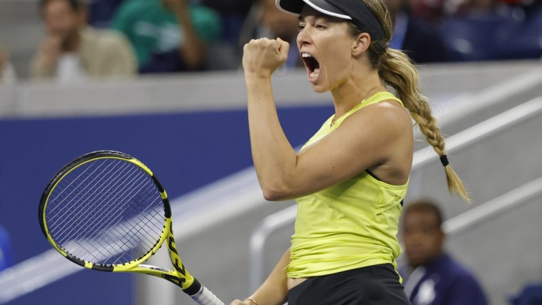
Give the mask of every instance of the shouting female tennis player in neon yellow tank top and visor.
<svg viewBox="0 0 542 305">
<path fill-rule="evenodd" d="M 245 45 L 252 158 L 263 196 L 296 199 L 299 210 L 290 249 L 257 291 L 231 304 L 410 304 L 395 259 L 413 158 L 411 117 L 440 155 L 448 188 L 469 200 L 448 165 L 418 73 L 388 47 L 392 25 L 380 0 L 277 0 L 277 6 L 299 15 L 297 47 L 308 81 L 314 91 L 332 93 L 335 113 L 296 153 L 271 83 L 290 45 L 267 38 Z"/>
</svg>

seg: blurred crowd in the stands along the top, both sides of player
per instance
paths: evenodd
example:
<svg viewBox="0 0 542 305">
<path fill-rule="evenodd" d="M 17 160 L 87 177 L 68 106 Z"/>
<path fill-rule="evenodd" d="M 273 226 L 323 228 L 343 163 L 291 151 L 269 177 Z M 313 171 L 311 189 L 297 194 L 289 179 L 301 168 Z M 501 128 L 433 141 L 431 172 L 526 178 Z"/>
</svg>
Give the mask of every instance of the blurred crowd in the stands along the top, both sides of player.
<svg viewBox="0 0 542 305">
<path fill-rule="evenodd" d="M 383 0 L 391 47 L 418 64 L 541 58 L 540 0 Z M 296 16 L 274 0 L 39 0 L 45 38 L 32 79 L 239 69 L 252 38 L 295 43 Z M 36 16 L 38 18 L 38 16 Z M 16 76 L 0 41 L 0 83 Z M 285 69 L 300 64 L 296 48 Z"/>
</svg>

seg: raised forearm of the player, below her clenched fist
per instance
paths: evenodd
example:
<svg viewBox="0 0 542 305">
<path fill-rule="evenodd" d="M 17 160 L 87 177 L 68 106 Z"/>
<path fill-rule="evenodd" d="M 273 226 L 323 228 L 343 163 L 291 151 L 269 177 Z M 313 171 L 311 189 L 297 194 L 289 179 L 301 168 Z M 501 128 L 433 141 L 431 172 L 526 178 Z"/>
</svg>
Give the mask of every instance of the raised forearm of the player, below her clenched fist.
<svg viewBox="0 0 542 305">
<path fill-rule="evenodd" d="M 264 196 L 288 188 L 296 153 L 286 138 L 274 104 L 270 78 L 246 76 L 248 124 L 254 168 Z"/>
</svg>

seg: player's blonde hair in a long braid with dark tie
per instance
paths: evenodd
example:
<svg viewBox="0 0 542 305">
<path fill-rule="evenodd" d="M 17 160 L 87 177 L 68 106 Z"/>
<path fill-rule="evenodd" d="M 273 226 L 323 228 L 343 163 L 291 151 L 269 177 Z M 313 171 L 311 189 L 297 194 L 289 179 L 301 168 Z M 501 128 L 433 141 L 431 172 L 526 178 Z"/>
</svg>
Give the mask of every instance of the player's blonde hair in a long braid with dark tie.
<svg viewBox="0 0 542 305">
<path fill-rule="evenodd" d="M 389 12 L 381 0 L 358 0 L 363 1 L 365 5 L 373 12 L 384 30 L 384 38 L 371 41 L 369 46 L 369 60 L 374 69 L 378 69 L 380 78 L 390 87 L 397 91 L 398 98 L 402 100 L 404 106 L 409 110 L 411 117 L 420 127 L 420 131 L 425 136 L 427 142 L 433 146 L 435 152 L 440 156 L 446 155 L 444 137 L 440 133 L 437 121 L 431 113 L 431 106 L 428 99 L 420 93 L 418 89 L 418 70 L 411 62 L 409 56 L 397 49 L 389 49 L 389 41 L 393 25 Z M 349 23 L 350 34 L 357 36 L 365 32 L 365 29 L 358 29 L 354 23 Z M 456 192 L 459 197 L 470 203 L 471 200 L 465 187 L 453 170 L 446 164 L 446 183 L 449 192 Z"/>
</svg>

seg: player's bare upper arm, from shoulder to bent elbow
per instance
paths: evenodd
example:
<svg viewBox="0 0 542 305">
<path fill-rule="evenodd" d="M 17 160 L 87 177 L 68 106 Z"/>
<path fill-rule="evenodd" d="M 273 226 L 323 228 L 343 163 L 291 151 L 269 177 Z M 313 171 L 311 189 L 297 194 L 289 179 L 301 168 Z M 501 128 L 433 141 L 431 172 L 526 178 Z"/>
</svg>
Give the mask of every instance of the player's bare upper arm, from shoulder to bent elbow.
<svg viewBox="0 0 542 305">
<path fill-rule="evenodd" d="M 376 106 L 376 105 L 375 105 Z M 402 136 L 389 106 L 367 107 L 297 155 L 291 190 L 303 196 L 345 181 L 389 159 Z"/>
</svg>

